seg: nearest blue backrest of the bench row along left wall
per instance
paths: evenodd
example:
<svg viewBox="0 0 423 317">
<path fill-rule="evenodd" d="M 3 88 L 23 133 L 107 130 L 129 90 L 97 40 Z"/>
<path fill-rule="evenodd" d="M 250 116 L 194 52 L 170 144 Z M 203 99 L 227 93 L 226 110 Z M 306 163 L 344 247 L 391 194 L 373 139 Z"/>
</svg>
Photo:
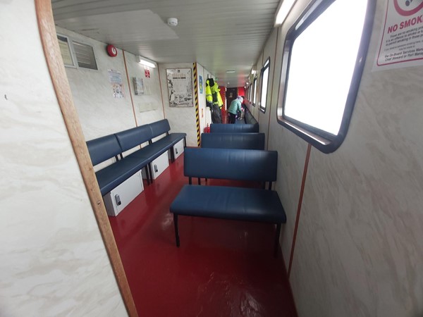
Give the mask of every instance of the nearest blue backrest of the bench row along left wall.
<svg viewBox="0 0 423 317">
<path fill-rule="evenodd" d="M 106 135 L 87 141 L 87 147 L 93 166 L 121 153 L 121 146 L 115 135 Z"/>
</svg>

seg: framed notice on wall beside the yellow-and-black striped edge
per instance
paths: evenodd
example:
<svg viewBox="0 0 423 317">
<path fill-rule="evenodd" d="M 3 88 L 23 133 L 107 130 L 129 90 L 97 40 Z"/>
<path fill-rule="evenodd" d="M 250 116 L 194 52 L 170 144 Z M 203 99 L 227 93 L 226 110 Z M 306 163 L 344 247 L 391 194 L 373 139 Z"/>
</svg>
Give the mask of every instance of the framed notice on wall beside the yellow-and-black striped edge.
<svg viewBox="0 0 423 317">
<path fill-rule="evenodd" d="M 191 68 L 166 69 L 169 106 L 192 107 Z"/>
</svg>

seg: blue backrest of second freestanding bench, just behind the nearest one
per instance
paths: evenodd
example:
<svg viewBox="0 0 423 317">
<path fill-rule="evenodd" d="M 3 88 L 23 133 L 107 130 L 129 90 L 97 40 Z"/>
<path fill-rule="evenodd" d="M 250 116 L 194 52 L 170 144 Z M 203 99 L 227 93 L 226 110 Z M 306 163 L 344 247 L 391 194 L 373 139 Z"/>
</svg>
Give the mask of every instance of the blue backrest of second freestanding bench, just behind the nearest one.
<svg viewBox="0 0 423 317">
<path fill-rule="evenodd" d="M 202 133 L 201 147 L 264 150 L 264 133 Z"/>
</svg>

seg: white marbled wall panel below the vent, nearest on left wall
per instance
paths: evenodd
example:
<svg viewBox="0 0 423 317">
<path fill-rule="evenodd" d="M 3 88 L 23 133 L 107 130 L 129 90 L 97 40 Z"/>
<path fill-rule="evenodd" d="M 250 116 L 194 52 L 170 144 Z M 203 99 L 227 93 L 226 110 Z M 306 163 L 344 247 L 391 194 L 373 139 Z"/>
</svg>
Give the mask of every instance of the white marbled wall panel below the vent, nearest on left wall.
<svg viewBox="0 0 423 317">
<path fill-rule="evenodd" d="M 73 102 L 78 111 L 85 139 L 95 139 L 134 128 L 135 118 L 130 102 L 121 49 L 118 49 L 116 57 L 110 57 L 106 53 L 105 43 L 60 27 L 56 27 L 56 30 L 94 48 L 98 70 L 66 68 Z M 109 70 L 118 70 L 121 73 L 124 98 L 114 98 L 113 89 L 109 81 Z"/>
</svg>

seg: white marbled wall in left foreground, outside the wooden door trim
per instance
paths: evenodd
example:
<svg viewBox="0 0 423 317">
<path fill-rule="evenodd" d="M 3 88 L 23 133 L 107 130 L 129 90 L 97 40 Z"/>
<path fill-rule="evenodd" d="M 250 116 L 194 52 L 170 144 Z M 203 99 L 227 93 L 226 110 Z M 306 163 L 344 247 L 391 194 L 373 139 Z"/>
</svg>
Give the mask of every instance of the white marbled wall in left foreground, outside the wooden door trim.
<svg viewBox="0 0 423 317">
<path fill-rule="evenodd" d="M 33 1 L 0 2 L 0 38 L 0 316 L 127 316 Z"/>
</svg>

